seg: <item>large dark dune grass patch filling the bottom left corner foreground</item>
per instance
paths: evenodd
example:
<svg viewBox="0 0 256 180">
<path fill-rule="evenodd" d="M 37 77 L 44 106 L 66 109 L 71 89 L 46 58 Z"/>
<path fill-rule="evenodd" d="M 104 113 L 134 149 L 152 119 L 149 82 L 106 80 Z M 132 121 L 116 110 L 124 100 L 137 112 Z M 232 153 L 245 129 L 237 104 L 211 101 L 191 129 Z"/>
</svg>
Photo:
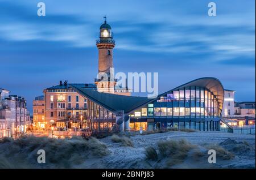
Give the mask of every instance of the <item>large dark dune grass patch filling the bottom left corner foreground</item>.
<svg viewBox="0 0 256 180">
<path fill-rule="evenodd" d="M 46 164 L 37 162 L 39 149 L 46 152 Z M 108 147 L 96 138 L 85 140 L 81 137 L 51 139 L 23 136 L 16 140 L 1 140 L 0 168 L 72 168 L 89 157 L 100 158 L 109 153 Z"/>
</svg>

